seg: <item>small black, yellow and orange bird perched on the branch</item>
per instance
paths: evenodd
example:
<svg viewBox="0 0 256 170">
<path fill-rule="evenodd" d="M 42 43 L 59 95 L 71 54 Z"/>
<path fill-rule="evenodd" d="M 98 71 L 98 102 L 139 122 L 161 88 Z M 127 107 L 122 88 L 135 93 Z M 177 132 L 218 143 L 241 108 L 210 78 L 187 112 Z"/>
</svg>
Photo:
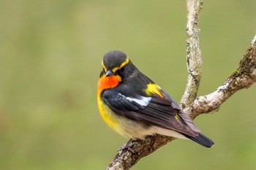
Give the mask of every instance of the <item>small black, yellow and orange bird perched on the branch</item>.
<svg viewBox="0 0 256 170">
<path fill-rule="evenodd" d="M 188 139 L 203 147 L 214 145 L 176 101 L 121 51 L 111 50 L 103 56 L 97 105 L 105 123 L 121 136 L 145 139 L 160 134 Z"/>
</svg>

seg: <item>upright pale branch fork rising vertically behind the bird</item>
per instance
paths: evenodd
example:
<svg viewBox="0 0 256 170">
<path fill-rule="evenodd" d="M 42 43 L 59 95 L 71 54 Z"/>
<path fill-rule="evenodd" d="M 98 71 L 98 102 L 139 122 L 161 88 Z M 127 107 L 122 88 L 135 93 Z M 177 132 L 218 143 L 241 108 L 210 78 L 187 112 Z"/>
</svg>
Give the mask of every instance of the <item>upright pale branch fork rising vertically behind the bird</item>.
<svg viewBox="0 0 256 170">
<path fill-rule="evenodd" d="M 202 74 L 202 58 L 199 43 L 199 12 L 203 7 L 202 0 L 187 0 L 187 87 L 181 98 L 181 108 L 193 103 Z"/>
</svg>

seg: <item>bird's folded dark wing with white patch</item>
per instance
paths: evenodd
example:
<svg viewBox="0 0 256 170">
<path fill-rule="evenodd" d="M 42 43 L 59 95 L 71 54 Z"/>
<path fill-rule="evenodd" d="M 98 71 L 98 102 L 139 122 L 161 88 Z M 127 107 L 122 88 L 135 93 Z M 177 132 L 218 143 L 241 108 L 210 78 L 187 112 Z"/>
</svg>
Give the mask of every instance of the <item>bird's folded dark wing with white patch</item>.
<svg viewBox="0 0 256 170">
<path fill-rule="evenodd" d="M 136 96 L 128 97 L 116 90 L 105 90 L 102 94 L 103 101 L 117 115 L 138 120 L 148 125 L 157 125 L 174 131 L 197 136 L 198 128 L 192 120 L 179 109 L 178 104 L 173 101 L 164 91 L 161 97 L 154 94 L 150 97 Z"/>
</svg>

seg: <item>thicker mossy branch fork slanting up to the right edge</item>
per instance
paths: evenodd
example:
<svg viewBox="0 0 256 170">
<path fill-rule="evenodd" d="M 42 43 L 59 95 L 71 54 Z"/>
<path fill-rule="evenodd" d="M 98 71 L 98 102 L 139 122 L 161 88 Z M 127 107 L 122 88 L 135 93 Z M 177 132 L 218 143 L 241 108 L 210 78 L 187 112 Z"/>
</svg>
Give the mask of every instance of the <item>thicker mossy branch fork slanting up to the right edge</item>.
<svg viewBox="0 0 256 170">
<path fill-rule="evenodd" d="M 238 90 L 249 88 L 254 82 L 256 82 L 256 34 L 238 69 L 216 91 L 198 97 L 191 106 L 184 109 L 184 112 L 193 118 L 203 113 L 215 112 L 227 98 Z"/>
</svg>

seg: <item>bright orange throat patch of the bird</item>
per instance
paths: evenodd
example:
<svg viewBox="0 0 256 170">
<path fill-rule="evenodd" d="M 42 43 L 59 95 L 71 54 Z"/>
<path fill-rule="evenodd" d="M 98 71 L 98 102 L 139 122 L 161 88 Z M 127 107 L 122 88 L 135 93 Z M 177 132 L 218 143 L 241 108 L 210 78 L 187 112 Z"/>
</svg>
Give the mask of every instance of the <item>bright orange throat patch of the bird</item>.
<svg viewBox="0 0 256 170">
<path fill-rule="evenodd" d="M 98 93 L 102 93 L 103 90 L 116 87 L 116 85 L 118 85 L 119 82 L 121 82 L 121 77 L 118 75 L 113 75 L 109 77 L 103 75 L 99 78 L 97 91 Z"/>
</svg>

